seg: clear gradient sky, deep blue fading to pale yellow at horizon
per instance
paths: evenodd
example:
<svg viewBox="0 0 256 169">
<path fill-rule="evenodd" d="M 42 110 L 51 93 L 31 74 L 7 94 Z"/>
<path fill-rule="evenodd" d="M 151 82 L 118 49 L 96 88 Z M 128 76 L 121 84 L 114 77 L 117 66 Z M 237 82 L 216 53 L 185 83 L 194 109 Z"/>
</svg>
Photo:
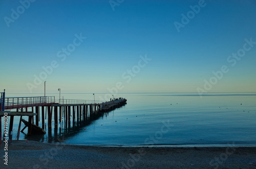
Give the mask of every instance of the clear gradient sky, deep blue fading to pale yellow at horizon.
<svg viewBox="0 0 256 169">
<path fill-rule="evenodd" d="M 256 92 L 256 2 L 0 1 L 8 93 Z"/>
</svg>

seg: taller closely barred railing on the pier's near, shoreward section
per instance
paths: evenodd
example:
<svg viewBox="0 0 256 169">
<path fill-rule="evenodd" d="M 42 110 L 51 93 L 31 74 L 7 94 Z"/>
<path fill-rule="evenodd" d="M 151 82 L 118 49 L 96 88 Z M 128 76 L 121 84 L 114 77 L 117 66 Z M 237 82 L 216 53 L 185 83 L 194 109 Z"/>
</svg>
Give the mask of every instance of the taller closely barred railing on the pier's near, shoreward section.
<svg viewBox="0 0 256 169">
<path fill-rule="evenodd" d="M 5 98 L 5 109 L 45 106 L 55 103 L 55 96 Z"/>
</svg>

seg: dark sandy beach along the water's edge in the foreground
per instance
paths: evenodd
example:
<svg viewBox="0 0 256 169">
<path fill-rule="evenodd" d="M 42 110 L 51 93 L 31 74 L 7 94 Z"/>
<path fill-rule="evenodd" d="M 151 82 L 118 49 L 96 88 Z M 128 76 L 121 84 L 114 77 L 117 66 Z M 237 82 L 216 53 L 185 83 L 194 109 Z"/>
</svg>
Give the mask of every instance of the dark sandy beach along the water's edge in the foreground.
<svg viewBox="0 0 256 169">
<path fill-rule="evenodd" d="M 96 147 L 13 140 L 0 168 L 256 168 L 256 147 Z"/>
</svg>

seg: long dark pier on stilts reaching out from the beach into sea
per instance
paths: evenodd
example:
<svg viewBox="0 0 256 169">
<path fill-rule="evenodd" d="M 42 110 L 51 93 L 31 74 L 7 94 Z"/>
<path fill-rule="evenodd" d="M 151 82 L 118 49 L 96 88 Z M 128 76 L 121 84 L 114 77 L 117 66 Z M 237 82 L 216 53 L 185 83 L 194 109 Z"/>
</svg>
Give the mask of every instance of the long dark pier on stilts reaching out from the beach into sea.
<svg viewBox="0 0 256 169">
<path fill-rule="evenodd" d="M 11 143 L 13 131 L 14 116 L 20 116 L 17 131 L 17 140 L 20 132 L 28 128 L 27 136 L 44 134 L 45 129 L 52 129 L 59 125 L 70 127 L 79 122 L 86 122 L 99 117 L 104 112 L 112 111 L 126 104 L 126 99 L 119 98 L 110 102 L 95 101 L 95 100 L 73 100 L 73 99 L 58 99 L 55 96 L 38 96 L 38 97 L 23 97 L 23 98 L 5 98 L 5 92 L 1 93 L 0 98 L 0 145 L 2 141 L 2 117 L 10 116 L 8 122 L 8 136 Z M 14 111 L 11 111 L 14 110 Z M 23 116 L 28 116 L 28 121 L 23 119 Z M 21 124 L 25 127 L 20 130 Z M 39 127 L 41 124 L 41 127 Z M 4 133 L 3 138 L 8 137 Z"/>
</svg>

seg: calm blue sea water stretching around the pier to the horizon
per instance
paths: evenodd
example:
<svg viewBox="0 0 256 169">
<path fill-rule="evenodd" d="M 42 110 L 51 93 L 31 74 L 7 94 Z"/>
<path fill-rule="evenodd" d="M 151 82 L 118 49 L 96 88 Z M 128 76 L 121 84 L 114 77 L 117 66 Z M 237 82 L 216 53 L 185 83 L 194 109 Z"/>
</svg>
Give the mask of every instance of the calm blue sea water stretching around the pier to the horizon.
<svg viewBox="0 0 256 169">
<path fill-rule="evenodd" d="M 104 96 L 96 94 L 96 98 L 99 95 Z M 7 94 L 7 97 L 13 96 L 32 95 Z M 93 98 L 92 94 L 63 96 L 65 99 Z M 44 136 L 27 138 L 21 133 L 20 137 L 46 142 L 61 138 L 68 144 L 115 146 L 256 144 L 256 93 L 208 93 L 202 98 L 197 93 L 120 93 L 115 97 L 126 98 L 127 105 L 79 127 L 71 124 L 70 128 L 59 125 L 54 129 L 52 124 L 52 130 L 46 129 Z M 19 118 L 14 120 L 13 138 L 16 138 Z"/>
</svg>

